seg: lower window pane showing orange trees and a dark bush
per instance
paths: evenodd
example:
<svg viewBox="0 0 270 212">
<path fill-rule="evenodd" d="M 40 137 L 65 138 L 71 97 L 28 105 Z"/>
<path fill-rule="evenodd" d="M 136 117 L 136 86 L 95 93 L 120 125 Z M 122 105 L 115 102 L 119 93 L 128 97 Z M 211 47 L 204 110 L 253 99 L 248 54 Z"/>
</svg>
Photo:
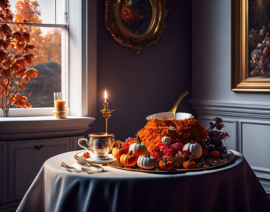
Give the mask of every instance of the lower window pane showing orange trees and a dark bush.
<svg viewBox="0 0 270 212">
<path fill-rule="evenodd" d="M 53 107 L 53 93 L 61 92 L 61 28 L 33 27 L 24 24 L 10 24 L 10 26 L 12 30 L 23 28 L 29 32 L 30 44 L 35 45 L 31 50 L 34 59 L 30 67 L 38 71 L 37 77 L 23 83 L 25 90 L 18 92 L 27 97 L 33 108 Z M 9 54 L 19 52 L 18 48 L 11 47 L 8 51 Z"/>
</svg>

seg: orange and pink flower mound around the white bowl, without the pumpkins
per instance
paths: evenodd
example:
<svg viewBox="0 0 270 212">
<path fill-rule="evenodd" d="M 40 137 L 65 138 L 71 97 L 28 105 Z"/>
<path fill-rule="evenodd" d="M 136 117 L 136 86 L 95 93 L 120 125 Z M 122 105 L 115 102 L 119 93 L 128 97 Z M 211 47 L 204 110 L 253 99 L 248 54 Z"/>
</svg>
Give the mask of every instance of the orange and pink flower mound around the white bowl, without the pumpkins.
<svg viewBox="0 0 270 212">
<path fill-rule="evenodd" d="M 202 141 L 207 139 L 208 133 L 200 123 L 192 118 L 182 120 L 159 120 L 149 119 L 146 126 L 141 129 L 137 136 L 141 143 L 145 144 L 152 157 L 158 161 L 166 157 L 171 160 L 172 155 L 182 151 L 184 144 L 190 142 L 190 139 Z M 163 137 L 169 137 L 171 140 L 162 142 Z M 136 142 L 136 138 L 128 138 L 122 143 L 122 147 L 128 147 Z"/>
</svg>

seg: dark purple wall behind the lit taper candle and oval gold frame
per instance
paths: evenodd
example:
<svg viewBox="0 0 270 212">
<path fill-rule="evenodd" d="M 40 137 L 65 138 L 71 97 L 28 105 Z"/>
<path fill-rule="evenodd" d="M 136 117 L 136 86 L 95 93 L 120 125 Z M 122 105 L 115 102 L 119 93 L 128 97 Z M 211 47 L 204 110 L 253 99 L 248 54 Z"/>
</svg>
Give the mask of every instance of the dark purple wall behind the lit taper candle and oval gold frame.
<svg viewBox="0 0 270 212">
<path fill-rule="evenodd" d="M 183 92 L 191 92 L 191 1 L 168 1 L 166 7 L 160 39 L 137 55 L 112 38 L 104 24 L 105 1 L 97 1 L 97 108 L 103 108 L 106 89 L 109 108 L 115 109 L 108 133 L 117 140 L 134 137 L 146 116 L 169 111 Z M 178 112 L 193 113 L 189 98 Z M 105 120 L 97 111 L 89 133 L 99 132 L 105 132 Z"/>
</svg>

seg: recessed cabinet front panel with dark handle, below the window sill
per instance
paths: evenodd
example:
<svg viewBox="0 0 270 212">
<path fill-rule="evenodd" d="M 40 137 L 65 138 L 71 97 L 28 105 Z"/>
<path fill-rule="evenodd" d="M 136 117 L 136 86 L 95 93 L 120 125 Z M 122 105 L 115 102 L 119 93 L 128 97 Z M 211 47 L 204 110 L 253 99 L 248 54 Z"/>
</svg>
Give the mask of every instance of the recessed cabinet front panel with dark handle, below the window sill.
<svg viewBox="0 0 270 212">
<path fill-rule="evenodd" d="M 73 138 L 9 142 L 9 201 L 24 197 L 43 163 L 70 151 Z"/>
</svg>

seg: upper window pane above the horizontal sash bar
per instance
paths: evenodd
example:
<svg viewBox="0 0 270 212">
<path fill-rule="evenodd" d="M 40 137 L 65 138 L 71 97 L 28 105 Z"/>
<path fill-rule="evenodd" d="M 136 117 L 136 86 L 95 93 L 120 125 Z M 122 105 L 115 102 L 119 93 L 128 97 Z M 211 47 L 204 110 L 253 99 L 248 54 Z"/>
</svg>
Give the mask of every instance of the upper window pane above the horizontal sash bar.
<svg viewBox="0 0 270 212">
<path fill-rule="evenodd" d="M 16 23 L 65 24 L 65 0 L 9 0 Z M 56 12 L 55 12 L 56 11 Z"/>
</svg>

